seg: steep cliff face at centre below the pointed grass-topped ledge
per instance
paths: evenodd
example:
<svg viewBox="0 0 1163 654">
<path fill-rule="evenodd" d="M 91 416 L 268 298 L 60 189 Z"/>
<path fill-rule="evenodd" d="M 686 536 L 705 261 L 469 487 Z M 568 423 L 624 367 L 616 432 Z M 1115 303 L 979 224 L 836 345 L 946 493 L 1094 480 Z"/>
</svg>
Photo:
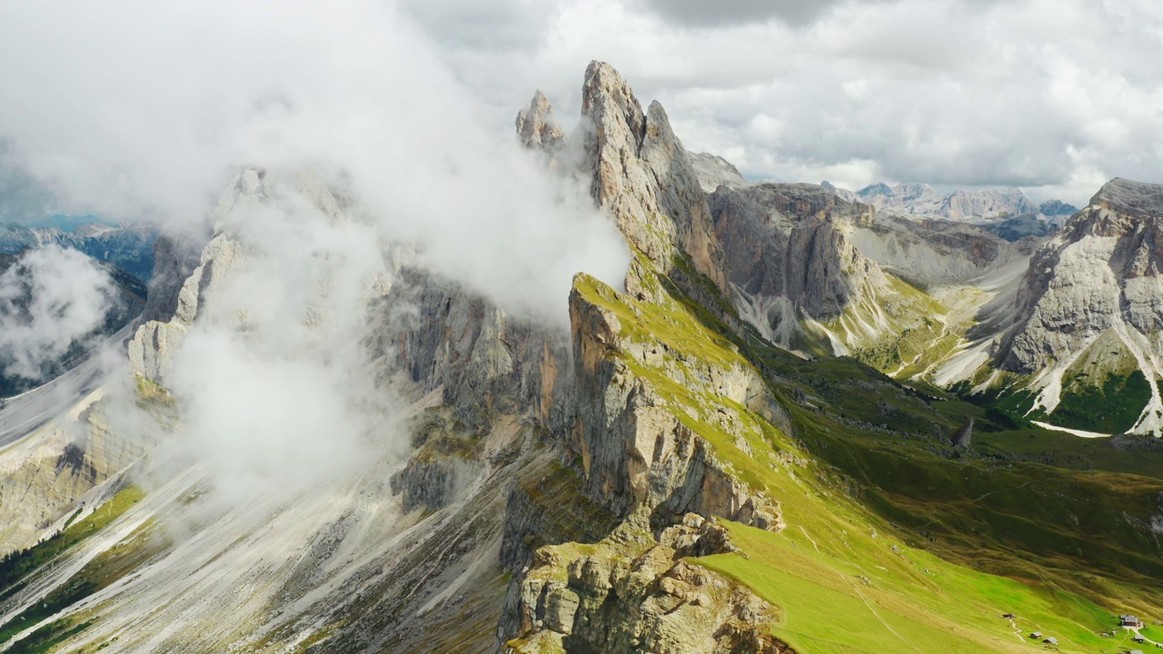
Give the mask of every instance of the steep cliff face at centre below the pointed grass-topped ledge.
<svg viewBox="0 0 1163 654">
<path fill-rule="evenodd" d="M 615 513 L 645 506 L 663 524 L 693 512 L 782 528 L 777 503 L 739 481 L 683 421 L 682 408 L 663 397 L 659 382 L 642 372 L 744 404 L 759 385 L 754 371 L 741 364 L 687 365 L 661 343 L 636 343 L 622 333 L 616 314 L 577 289 L 570 294 L 570 318 L 577 424 L 569 447 L 580 457 L 592 497 Z"/>
</svg>

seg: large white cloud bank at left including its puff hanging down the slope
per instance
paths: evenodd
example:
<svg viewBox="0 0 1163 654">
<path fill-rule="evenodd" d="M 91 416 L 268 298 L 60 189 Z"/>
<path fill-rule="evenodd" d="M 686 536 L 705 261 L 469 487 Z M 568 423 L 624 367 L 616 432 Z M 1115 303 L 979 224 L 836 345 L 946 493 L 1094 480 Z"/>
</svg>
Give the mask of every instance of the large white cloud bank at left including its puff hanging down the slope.
<svg viewBox="0 0 1163 654">
<path fill-rule="evenodd" d="M 429 26 L 445 10 L 409 7 Z M 501 29 L 516 14 L 473 15 Z M 625 276 L 628 247 L 588 190 L 521 149 L 516 107 L 493 121 L 441 56 L 465 35 L 434 38 L 378 0 L 0 7 L 14 63 L 0 87 L 19 99 L 0 106 L 0 136 L 29 175 L 74 212 L 216 222 L 231 243 L 165 377 L 183 413 L 171 446 L 224 497 L 402 460 L 406 403 L 377 386 L 366 349 L 372 326 L 393 328 L 368 312 L 393 244 L 561 334 L 576 272 Z M 516 30 L 472 45 L 495 42 L 531 43 Z M 215 205 L 250 166 L 263 200 Z"/>
</svg>

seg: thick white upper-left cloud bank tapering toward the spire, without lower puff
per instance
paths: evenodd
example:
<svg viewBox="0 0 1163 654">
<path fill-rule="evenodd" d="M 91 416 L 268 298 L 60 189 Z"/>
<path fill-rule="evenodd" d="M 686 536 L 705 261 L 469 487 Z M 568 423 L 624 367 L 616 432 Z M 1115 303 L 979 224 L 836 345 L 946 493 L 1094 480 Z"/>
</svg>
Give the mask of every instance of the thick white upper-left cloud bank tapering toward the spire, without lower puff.
<svg viewBox="0 0 1163 654">
<path fill-rule="evenodd" d="M 628 263 L 582 190 L 483 121 L 394 3 L 27 5 L 0 26 L 20 62 L 0 71 L 20 98 L 0 125 L 77 211 L 192 222 L 244 165 L 314 170 L 345 180 L 381 235 L 427 244 L 437 272 L 509 308 L 559 319 L 575 272 L 616 280 Z"/>
</svg>

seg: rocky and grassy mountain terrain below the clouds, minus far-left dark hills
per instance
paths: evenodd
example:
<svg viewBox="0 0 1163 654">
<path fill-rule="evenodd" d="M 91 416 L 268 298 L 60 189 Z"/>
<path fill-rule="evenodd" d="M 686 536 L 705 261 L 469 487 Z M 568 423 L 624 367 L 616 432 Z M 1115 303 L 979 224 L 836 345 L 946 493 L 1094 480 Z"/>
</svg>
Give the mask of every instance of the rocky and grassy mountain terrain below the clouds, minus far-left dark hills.
<svg viewBox="0 0 1163 654">
<path fill-rule="evenodd" d="M 568 327 L 409 242 L 373 243 L 359 292 L 337 291 L 355 255 L 311 256 L 280 271 L 308 290 L 293 313 L 240 305 L 270 248 L 240 216 L 368 220 L 315 172 L 242 171 L 213 234 L 159 237 L 110 336 L 123 369 L 93 382 L 86 361 L 0 408 L 0 651 L 1163 644 L 1163 185 L 1112 179 L 1075 211 L 748 182 L 599 62 L 582 114 L 566 133 L 538 92 L 516 120 L 630 253 L 622 284 L 578 271 Z M 238 389 L 315 369 L 274 357 L 217 394 L 190 370 L 269 334 L 359 381 L 333 384 L 350 411 L 272 406 L 320 442 L 369 419 L 337 471 L 316 445 L 227 488 L 236 458 L 299 455 L 278 434 L 190 452 L 187 429 L 217 428 L 201 403 L 251 427 Z"/>
</svg>

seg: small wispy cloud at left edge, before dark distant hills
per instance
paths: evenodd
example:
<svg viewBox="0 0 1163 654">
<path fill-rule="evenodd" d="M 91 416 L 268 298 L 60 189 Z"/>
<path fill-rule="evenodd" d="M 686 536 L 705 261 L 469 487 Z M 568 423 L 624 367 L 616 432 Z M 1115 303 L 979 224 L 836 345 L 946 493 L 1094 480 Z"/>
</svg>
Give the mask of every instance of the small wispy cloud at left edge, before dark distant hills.
<svg viewBox="0 0 1163 654">
<path fill-rule="evenodd" d="M 105 269 L 57 246 L 26 250 L 0 275 L 5 375 L 41 378 L 104 325 L 116 290 Z"/>
</svg>

